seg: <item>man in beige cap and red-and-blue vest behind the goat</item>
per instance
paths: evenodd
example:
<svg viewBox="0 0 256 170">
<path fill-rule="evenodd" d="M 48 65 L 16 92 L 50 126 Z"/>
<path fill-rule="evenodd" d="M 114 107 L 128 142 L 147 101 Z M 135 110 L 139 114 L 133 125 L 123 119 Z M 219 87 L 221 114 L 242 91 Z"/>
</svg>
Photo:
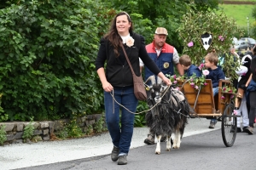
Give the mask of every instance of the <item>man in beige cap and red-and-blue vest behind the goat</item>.
<svg viewBox="0 0 256 170">
<path fill-rule="evenodd" d="M 179 56 L 176 48 L 166 43 L 168 32 L 164 27 L 158 27 L 154 32 L 154 41 L 146 46 L 146 50 L 151 59 L 160 68 L 165 75 L 174 75 L 174 66 L 176 65 L 177 71 L 180 76 L 183 76 L 182 65 L 179 64 Z M 141 72 L 143 71 L 143 61 L 140 59 Z M 154 75 L 145 67 L 145 80 Z M 161 141 L 165 140 L 164 138 Z M 154 134 L 148 133 L 148 138 L 144 140 L 146 144 L 154 144 Z"/>
</svg>

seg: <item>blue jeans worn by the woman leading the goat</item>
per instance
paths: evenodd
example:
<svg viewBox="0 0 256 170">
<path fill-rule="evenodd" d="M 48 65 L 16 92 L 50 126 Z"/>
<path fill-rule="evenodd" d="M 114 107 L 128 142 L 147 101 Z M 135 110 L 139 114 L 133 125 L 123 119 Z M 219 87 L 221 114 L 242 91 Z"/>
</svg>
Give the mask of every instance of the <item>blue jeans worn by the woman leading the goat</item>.
<svg viewBox="0 0 256 170">
<path fill-rule="evenodd" d="M 114 99 L 116 99 L 119 104 L 124 105 L 129 111 L 136 111 L 138 100 L 133 93 L 133 86 L 125 88 L 114 87 L 111 94 L 113 93 Z M 113 145 L 119 147 L 119 156 L 128 155 L 131 146 L 135 115 L 117 104 L 111 94 L 104 91 L 108 132 L 110 133 Z M 119 127 L 119 113 L 121 113 L 121 127 Z"/>
</svg>

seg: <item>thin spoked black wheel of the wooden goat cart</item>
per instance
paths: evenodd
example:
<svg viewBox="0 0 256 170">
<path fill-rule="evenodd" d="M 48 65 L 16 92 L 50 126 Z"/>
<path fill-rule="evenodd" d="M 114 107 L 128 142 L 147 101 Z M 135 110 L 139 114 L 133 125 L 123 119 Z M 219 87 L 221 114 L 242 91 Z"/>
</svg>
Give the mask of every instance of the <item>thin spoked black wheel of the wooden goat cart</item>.
<svg viewBox="0 0 256 170">
<path fill-rule="evenodd" d="M 236 140 L 236 132 L 237 132 L 237 118 L 232 117 L 234 115 L 234 105 L 228 104 L 224 109 L 224 114 L 222 117 L 221 124 L 221 133 L 224 144 L 227 147 L 232 146 Z"/>
</svg>

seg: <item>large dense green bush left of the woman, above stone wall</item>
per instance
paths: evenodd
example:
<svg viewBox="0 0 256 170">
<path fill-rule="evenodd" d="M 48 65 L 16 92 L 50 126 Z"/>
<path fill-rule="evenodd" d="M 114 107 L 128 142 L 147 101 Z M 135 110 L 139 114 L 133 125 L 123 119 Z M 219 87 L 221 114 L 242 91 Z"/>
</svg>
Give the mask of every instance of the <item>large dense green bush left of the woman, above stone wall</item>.
<svg viewBox="0 0 256 170">
<path fill-rule="evenodd" d="M 9 120 L 101 111 L 94 63 L 110 10 L 98 0 L 14 0 L 1 8 L 0 90 Z"/>
</svg>

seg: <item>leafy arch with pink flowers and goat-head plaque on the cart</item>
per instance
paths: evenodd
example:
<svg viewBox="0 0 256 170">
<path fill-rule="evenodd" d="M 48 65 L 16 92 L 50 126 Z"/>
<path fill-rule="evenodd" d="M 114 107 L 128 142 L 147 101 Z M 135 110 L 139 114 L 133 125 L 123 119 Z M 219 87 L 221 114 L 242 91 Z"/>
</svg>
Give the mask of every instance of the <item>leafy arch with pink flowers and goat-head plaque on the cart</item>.
<svg viewBox="0 0 256 170">
<path fill-rule="evenodd" d="M 212 44 L 207 50 L 203 48 L 201 43 L 201 35 L 206 32 L 213 35 Z M 195 14 L 193 11 L 189 11 L 183 15 L 177 33 L 183 43 L 183 54 L 188 54 L 193 64 L 200 65 L 208 53 L 215 51 L 219 57 L 224 58 L 222 68 L 226 77 L 237 77 L 234 68 L 237 68 L 240 64 L 230 54 L 230 46 L 233 45 L 234 35 L 239 33 L 242 37 L 243 32 L 236 26 L 236 20 L 228 18 L 223 13 L 199 12 Z M 192 47 L 189 47 L 189 42 L 193 42 Z"/>
</svg>

